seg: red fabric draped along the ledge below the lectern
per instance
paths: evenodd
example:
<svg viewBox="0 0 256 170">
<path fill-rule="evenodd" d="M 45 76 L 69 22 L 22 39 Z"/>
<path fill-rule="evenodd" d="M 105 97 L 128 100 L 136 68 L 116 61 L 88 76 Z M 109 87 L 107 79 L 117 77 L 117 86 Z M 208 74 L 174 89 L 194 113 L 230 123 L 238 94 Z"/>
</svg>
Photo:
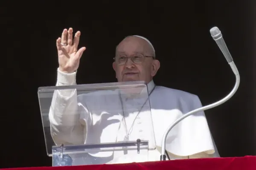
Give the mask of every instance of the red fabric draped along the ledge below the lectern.
<svg viewBox="0 0 256 170">
<path fill-rule="evenodd" d="M 6 170 L 256 170 L 256 156 L 70 167 L 25 167 Z"/>
</svg>

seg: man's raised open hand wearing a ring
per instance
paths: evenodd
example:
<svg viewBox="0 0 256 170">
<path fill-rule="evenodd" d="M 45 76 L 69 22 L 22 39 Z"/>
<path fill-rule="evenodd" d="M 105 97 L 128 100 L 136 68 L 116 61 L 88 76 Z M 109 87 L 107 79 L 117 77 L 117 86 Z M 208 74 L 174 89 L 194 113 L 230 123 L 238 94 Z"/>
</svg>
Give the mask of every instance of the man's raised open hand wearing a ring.
<svg viewBox="0 0 256 170">
<path fill-rule="evenodd" d="M 58 50 L 59 70 L 65 73 L 73 73 L 79 67 L 80 58 L 86 49 L 85 47 L 78 48 L 81 32 L 77 31 L 73 40 L 73 29 L 64 29 L 56 41 Z"/>
</svg>

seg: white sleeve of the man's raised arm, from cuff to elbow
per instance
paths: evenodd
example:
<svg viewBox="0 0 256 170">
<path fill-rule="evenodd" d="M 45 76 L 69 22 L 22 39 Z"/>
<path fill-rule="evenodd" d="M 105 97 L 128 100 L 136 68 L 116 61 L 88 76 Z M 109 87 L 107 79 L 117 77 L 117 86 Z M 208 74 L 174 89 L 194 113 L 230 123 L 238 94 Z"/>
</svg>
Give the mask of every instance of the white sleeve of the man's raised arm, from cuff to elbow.
<svg viewBox="0 0 256 170">
<path fill-rule="evenodd" d="M 66 74 L 58 69 L 56 86 L 75 84 L 76 72 Z M 54 92 L 49 110 L 49 122 L 55 144 L 84 144 L 84 127 L 79 123 L 76 90 Z"/>
</svg>

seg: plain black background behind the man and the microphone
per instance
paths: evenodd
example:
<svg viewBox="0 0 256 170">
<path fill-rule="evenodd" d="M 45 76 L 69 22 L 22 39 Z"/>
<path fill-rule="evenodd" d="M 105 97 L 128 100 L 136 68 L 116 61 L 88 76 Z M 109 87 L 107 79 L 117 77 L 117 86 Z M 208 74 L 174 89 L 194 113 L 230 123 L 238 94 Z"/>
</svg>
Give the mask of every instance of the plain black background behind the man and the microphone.
<svg viewBox="0 0 256 170">
<path fill-rule="evenodd" d="M 6 1 L 7 2 L 7 1 Z M 115 82 L 112 58 L 125 37 L 147 37 L 161 68 L 157 85 L 197 94 L 203 105 L 221 99 L 235 77 L 209 29 L 218 26 L 241 75 L 228 102 L 206 111 L 221 157 L 256 154 L 253 0 L 5 2 L 0 167 L 51 166 L 37 90 L 56 82 L 55 40 L 81 31 L 78 84 Z"/>
</svg>

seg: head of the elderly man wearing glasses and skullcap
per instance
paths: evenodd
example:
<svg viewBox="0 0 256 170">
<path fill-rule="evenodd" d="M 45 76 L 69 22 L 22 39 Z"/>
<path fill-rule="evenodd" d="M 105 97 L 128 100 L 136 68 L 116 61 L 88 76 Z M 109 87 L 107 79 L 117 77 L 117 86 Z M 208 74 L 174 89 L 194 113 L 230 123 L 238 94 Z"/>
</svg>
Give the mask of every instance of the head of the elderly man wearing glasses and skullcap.
<svg viewBox="0 0 256 170">
<path fill-rule="evenodd" d="M 145 81 L 150 82 L 152 77 L 156 74 L 159 67 L 157 67 L 157 60 L 153 59 L 153 49 L 145 40 L 139 37 L 127 37 L 119 43 L 116 48 L 115 62 L 113 68 L 116 71 L 116 78 L 118 82 L 128 81 Z M 135 63 L 131 57 L 143 57 L 143 62 Z M 127 59 L 123 64 L 120 64 L 119 59 Z"/>
</svg>

